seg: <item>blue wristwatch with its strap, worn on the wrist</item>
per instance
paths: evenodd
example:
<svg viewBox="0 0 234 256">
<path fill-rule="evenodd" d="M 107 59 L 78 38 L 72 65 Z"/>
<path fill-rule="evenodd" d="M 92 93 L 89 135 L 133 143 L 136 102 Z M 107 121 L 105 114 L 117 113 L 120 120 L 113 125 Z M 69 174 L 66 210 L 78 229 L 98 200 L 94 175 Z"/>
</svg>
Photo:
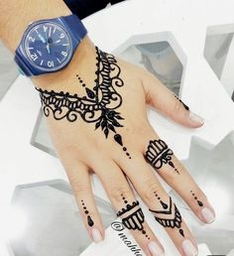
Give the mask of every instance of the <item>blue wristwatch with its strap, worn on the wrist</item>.
<svg viewBox="0 0 234 256">
<path fill-rule="evenodd" d="M 27 76 L 55 72 L 66 66 L 87 31 L 76 15 L 41 20 L 29 25 L 15 53 Z"/>
</svg>

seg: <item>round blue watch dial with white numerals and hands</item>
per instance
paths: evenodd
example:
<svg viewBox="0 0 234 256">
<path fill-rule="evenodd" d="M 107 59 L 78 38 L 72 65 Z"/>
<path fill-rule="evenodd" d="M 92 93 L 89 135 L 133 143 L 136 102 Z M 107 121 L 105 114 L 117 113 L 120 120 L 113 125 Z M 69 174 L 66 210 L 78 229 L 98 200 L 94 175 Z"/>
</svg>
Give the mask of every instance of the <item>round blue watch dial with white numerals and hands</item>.
<svg viewBox="0 0 234 256">
<path fill-rule="evenodd" d="M 71 58 L 71 40 L 55 23 L 40 23 L 25 38 L 25 52 L 30 62 L 47 71 L 58 70 Z"/>
</svg>

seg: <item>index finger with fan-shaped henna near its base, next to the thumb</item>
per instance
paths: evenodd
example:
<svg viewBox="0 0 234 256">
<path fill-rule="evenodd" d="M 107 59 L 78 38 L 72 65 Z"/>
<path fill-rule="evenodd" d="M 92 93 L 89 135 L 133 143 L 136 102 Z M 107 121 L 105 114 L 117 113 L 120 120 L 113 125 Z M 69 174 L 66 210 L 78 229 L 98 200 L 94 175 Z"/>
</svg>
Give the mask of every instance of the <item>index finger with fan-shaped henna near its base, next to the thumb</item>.
<svg viewBox="0 0 234 256">
<path fill-rule="evenodd" d="M 176 159 L 167 143 L 157 135 L 154 137 L 156 139 L 150 140 L 145 152 L 148 163 L 186 201 L 201 221 L 213 222 L 215 212 L 205 194 Z"/>
</svg>

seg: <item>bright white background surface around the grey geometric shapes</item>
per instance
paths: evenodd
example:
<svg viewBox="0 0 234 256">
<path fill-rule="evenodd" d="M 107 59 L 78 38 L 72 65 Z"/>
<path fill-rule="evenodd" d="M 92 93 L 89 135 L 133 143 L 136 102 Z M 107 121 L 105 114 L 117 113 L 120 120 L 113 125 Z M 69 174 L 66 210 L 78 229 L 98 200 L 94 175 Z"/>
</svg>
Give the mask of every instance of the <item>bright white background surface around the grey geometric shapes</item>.
<svg viewBox="0 0 234 256">
<path fill-rule="evenodd" d="M 234 105 L 220 81 L 203 58 L 207 26 L 228 24 L 209 33 L 234 31 L 232 0 L 132 0 L 108 8 L 87 19 L 90 38 L 105 51 L 117 50 L 133 35 L 155 39 L 176 38 L 172 46 L 186 63 L 182 77 L 182 93 L 190 108 L 205 117 L 199 130 L 173 125 L 151 112 L 157 132 L 174 148 L 180 159 L 187 157 L 191 135 L 211 144 L 218 143 L 234 129 Z M 143 39 L 144 40 L 144 39 Z M 143 42 L 142 42 L 143 43 Z M 120 51 L 120 50 L 118 50 Z M 185 59 L 183 57 L 185 56 Z M 58 160 L 30 145 L 30 139 L 40 108 L 40 100 L 30 80 L 19 77 L 0 102 L 0 255 L 8 255 L 4 245 L 8 213 L 5 212 L 16 185 L 51 179 L 65 179 Z M 94 192 L 104 193 L 94 182 Z M 2 251 L 1 251 L 2 249 Z"/>
</svg>

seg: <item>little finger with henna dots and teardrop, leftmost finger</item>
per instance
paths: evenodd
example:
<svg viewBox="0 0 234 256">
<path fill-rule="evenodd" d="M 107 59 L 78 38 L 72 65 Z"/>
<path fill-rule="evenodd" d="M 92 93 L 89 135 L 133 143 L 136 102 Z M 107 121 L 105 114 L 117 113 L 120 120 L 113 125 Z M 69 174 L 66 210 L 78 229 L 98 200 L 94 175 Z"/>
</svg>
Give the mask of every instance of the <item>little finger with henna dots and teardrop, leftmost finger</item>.
<svg viewBox="0 0 234 256">
<path fill-rule="evenodd" d="M 73 168 L 66 169 L 66 174 L 74 192 L 84 226 L 90 238 L 98 243 L 104 239 L 104 229 L 94 201 L 88 168 L 79 163 Z"/>
</svg>

